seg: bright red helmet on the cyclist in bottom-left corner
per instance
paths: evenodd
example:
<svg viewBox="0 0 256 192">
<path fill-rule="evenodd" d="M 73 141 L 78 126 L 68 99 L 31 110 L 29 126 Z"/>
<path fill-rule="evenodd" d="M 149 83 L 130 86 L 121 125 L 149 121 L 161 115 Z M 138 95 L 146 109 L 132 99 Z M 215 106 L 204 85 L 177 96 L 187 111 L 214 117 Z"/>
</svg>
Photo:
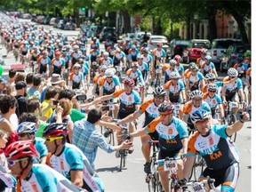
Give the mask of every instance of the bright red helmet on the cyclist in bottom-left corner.
<svg viewBox="0 0 256 192">
<path fill-rule="evenodd" d="M 38 156 L 33 140 L 19 140 L 11 143 L 5 148 L 4 155 L 8 159 Z"/>
</svg>

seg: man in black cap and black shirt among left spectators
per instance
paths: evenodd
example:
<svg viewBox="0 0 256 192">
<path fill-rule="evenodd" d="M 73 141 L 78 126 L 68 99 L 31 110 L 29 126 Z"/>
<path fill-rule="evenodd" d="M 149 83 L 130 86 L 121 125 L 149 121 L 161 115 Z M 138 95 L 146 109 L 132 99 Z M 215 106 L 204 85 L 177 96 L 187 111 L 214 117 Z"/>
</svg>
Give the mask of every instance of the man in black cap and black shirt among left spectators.
<svg viewBox="0 0 256 192">
<path fill-rule="evenodd" d="M 17 82 L 15 84 L 15 89 L 15 98 L 18 101 L 18 106 L 15 113 L 18 117 L 20 117 L 23 112 L 27 112 L 27 84 L 24 81 Z"/>
</svg>

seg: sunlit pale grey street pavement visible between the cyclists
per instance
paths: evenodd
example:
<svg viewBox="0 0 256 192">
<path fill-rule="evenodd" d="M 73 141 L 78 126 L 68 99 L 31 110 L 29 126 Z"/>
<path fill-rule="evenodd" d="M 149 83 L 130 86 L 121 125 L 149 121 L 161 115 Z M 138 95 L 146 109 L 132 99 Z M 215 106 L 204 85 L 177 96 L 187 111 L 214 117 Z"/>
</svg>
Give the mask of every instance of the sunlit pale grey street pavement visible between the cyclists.
<svg viewBox="0 0 256 192">
<path fill-rule="evenodd" d="M 45 29 L 52 28 L 50 26 L 44 26 Z M 77 36 L 79 31 L 64 31 L 58 28 L 54 28 L 56 32 L 62 32 L 64 35 Z M 103 49 L 103 45 L 100 45 L 100 49 Z M 4 47 L 1 49 L 0 54 L 6 53 Z M 5 64 L 7 66 L 17 63 L 14 60 L 12 52 L 10 52 L 6 58 L 4 58 Z M 220 78 L 225 76 L 225 74 L 220 74 Z M 92 86 L 90 87 L 92 90 Z M 152 88 L 148 89 L 148 97 L 146 99 L 151 99 Z M 150 94 L 151 93 L 151 94 Z M 88 95 L 87 95 L 88 96 Z M 144 115 L 140 116 L 138 129 L 141 128 L 144 120 Z M 251 122 L 244 123 L 244 127 L 240 132 L 237 132 L 236 146 L 240 153 L 240 177 L 237 183 L 236 191 L 238 192 L 249 192 L 251 191 L 251 132 L 252 124 Z M 100 131 L 100 128 L 97 128 Z M 145 182 L 146 174 L 143 172 L 144 157 L 141 153 L 141 143 L 140 138 L 135 138 L 133 140 L 134 152 L 127 156 L 126 169 L 123 172 L 118 172 L 120 158 L 116 158 L 115 153 L 107 154 L 100 148 L 98 150 L 98 156 L 96 157 L 95 166 L 96 171 L 99 173 L 100 178 L 105 184 L 106 191 L 111 192 L 140 192 L 148 191 L 147 183 Z"/>
</svg>

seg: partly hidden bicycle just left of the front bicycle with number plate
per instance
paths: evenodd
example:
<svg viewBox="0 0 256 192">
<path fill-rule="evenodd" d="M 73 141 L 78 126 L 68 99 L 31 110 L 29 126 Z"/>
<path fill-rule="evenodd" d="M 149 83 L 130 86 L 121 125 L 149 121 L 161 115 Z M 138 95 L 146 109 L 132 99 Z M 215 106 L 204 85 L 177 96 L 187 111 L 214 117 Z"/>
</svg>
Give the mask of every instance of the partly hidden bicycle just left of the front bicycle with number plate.
<svg viewBox="0 0 256 192">
<path fill-rule="evenodd" d="M 146 182 L 148 183 L 148 192 L 161 192 L 163 191 L 163 187 L 160 182 L 159 173 L 157 171 L 157 163 L 156 163 L 156 154 L 158 153 L 158 149 L 156 148 L 156 143 L 158 140 L 149 140 L 150 146 L 153 148 L 153 154 L 150 157 L 150 170 L 151 172 L 146 176 Z"/>
</svg>

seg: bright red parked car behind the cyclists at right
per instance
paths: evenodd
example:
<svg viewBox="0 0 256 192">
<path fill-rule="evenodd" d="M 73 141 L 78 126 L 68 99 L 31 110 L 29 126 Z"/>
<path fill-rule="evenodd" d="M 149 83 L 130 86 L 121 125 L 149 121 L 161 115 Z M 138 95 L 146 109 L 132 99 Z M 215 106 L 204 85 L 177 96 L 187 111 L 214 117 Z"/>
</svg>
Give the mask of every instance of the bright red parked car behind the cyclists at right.
<svg viewBox="0 0 256 192">
<path fill-rule="evenodd" d="M 190 40 L 188 47 L 183 51 L 182 59 L 187 63 L 192 60 L 197 60 L 201 57 L 202 49 L 209 49 L 211 42 L 208 39 L 192 39 Z"/>
</svg>

